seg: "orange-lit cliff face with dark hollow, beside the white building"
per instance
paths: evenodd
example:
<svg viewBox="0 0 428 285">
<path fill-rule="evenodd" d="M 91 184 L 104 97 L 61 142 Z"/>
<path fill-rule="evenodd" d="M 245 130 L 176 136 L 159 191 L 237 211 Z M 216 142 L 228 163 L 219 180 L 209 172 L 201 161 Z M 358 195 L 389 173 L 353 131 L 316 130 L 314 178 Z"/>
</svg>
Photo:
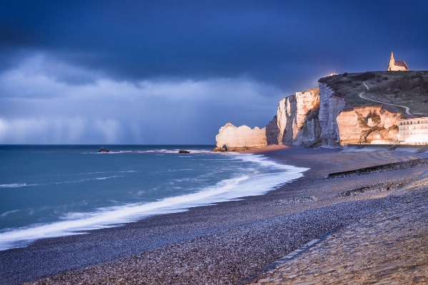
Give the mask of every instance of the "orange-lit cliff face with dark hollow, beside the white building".
<svg viewBox="0 0 428 285">
<path fill-rule="evenodd" d="M 402 114 L 382 106 L 355 107 L 337 116 L 340 144 L 371 143 L 377 140 L 397 141 L 398 121 Z"/>
</svg>

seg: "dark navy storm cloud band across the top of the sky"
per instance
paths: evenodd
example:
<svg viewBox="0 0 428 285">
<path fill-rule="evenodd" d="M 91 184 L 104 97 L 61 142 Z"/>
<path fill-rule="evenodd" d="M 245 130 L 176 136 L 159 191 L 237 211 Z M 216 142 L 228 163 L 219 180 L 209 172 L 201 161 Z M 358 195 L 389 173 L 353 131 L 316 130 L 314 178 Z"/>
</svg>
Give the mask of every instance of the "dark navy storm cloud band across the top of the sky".
<svg viewBox="0 0 428 285">
<path fill-rule="evenodd" d="M 62 51 L 64 59 L 118 79 L 247 74 L 284 85 L 284 74 L 291 72 L 365 70 L 375 67 L 370 62 L 386 61 L 374 59 L 390 49 L 427 45 L 422 36 L 428 31 L 427 1 L 6 1 L 1 6 L 4 49 Z"/>
</svg>

